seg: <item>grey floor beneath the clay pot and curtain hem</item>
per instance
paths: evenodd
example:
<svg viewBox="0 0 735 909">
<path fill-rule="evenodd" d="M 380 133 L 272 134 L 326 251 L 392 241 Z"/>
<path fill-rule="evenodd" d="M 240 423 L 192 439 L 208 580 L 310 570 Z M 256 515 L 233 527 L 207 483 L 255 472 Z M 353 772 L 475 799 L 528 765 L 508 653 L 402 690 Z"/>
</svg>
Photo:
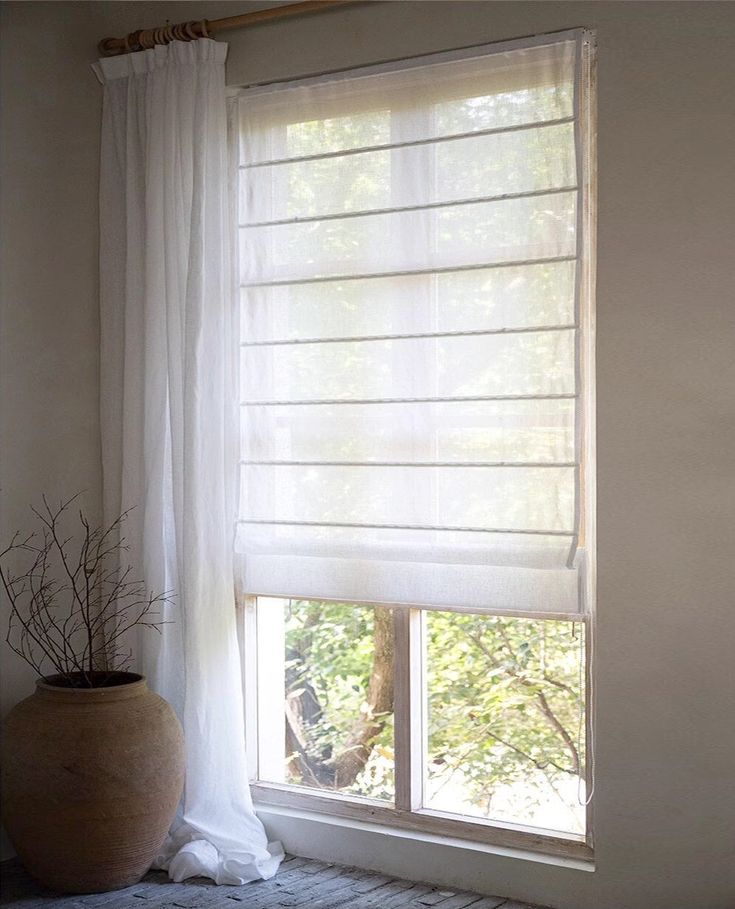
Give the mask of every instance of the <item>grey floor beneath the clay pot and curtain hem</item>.
<svg viewBox="0 0 735 909">
<path fill-rule="evenodd" d="M 173 884 L 153 871 L 112 893 L 59 896 L 36 884 L 16 860 L 3 862 L 0 906 L 13 909 L 535 909 L 499 896 L 418 884 L 287 856 L 276 877 L 242 887 L 194 878 Z"/>
</svg>

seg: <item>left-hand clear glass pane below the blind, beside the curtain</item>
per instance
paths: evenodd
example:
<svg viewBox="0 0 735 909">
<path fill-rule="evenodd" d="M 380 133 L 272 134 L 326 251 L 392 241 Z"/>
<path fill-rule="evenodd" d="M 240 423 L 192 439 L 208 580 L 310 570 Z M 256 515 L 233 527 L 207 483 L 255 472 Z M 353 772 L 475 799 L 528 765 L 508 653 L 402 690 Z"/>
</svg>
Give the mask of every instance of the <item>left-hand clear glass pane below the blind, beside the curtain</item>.
<svg viewBox="0 0 735 909">
<path fill-rule="evenodd" d="M 392 801 L 393 614 L 258 599 L 259 777 Z"/>
</svg>

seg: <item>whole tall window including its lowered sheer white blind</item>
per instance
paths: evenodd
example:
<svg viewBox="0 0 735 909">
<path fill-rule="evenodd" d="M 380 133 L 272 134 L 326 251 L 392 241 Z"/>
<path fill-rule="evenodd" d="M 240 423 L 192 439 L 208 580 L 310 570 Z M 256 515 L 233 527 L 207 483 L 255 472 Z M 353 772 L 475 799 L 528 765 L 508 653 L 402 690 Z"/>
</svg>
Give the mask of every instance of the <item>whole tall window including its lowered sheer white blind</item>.
<svg viewBox="0 0 735 909">
<path fill-rule="evenodd" d="M 588 854 L 590 73 L 576 31 L 239 96 L 258 799 Z"/>
</svg>

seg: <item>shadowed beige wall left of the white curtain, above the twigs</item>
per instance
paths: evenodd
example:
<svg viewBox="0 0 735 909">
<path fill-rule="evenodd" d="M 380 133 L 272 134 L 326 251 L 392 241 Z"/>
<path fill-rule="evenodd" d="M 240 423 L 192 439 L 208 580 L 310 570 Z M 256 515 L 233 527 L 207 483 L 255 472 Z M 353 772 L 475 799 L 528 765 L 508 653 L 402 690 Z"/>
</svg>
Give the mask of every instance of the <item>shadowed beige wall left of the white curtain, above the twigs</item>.
<svg viewBox="0 0 735 909">
<path fill-rule="evenodd" d="M 73 6 L 73 5 L 72 5 Z M 0 540 L 29 505 L 100 497 L 97 29 L 65 3 L 5 3 L 0 54 Z M 7 604 L 2 598 L 2 637 Z M 3 715 L 33 674 L 2 645 Z"/>
</svg>

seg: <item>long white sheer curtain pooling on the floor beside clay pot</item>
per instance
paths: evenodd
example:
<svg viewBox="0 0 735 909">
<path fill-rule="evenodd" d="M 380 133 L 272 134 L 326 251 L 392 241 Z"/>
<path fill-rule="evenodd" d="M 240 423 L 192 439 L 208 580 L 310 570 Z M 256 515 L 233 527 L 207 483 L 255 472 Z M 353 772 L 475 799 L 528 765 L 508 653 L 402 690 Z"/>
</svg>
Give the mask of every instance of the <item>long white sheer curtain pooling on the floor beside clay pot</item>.
<svg viewBox="0 0 735 909">
<path fill-rule="evenodd" d="M 140 666 L 175 707 L 186 786 L 158 863 L 174 880 L 272 876 L 245 760 L 233 597 L 236 425 L 224 59 L 202 39 L 101 60 L 104 507 L 176 604 Z"/>
</svg>

